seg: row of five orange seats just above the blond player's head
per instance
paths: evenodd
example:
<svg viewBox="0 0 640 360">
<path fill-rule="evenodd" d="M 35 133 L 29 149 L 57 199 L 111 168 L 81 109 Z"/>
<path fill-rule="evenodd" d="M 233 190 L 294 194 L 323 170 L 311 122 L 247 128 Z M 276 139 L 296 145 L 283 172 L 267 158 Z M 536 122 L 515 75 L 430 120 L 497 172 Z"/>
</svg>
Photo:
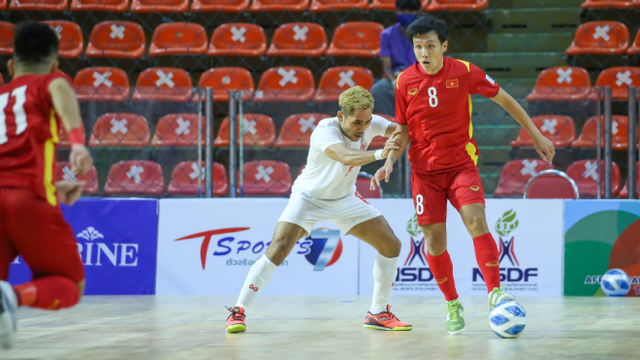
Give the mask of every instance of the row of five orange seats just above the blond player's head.
<svg viewBox="0 0 640 360">
<path fill-rule="evenodd" d="M 220 67 L 204 72 L 198 86 L 213 89 L 214 101 L 228 101 L 229 90 L 243 91 L 245 101 L 255 102 L 335 102 L 340 94 L 355 85 L 365 89 L 373 86 L 371 70 L 357 66 L 327 69 L 316 89 L 311 70 L 299 66 L 271 68 L 262 73 L 258 89 L 254 90 L 251 73 L 238 67 Z M 131 95 L 127 74 L 114 67 L 92 67 L 78 72 L 74 78 L 80 101 L 173 101 L 200 99 L 193 91 L 191 76 L 179 68 L 156 67 L 145 69 L 138 76 Z"/>
</svg>

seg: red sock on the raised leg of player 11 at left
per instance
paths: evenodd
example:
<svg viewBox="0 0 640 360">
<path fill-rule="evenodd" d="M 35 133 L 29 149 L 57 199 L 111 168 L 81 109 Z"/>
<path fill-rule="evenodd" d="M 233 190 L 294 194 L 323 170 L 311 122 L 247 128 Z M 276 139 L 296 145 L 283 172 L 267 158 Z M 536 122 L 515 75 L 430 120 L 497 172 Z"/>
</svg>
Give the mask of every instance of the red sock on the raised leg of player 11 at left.
<svg viewBox="0 0 640 360">
<path fill-rule="evenodd" d="M 13 287 L 19 306 L 31 306 L 45 310 L 72 307 L 80 299 L 80 289 L 63 276 L 45 276 Z"/>
</svg>

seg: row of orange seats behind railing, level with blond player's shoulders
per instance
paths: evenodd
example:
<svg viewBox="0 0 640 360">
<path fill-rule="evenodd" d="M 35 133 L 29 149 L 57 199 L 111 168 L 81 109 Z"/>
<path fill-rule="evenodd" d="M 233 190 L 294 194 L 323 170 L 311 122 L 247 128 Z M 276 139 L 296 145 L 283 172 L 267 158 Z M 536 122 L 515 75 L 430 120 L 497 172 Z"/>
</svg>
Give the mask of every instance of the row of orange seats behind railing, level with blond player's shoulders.
<svg viewBox="0 0 640 360">
<path fill-rule="evenodd" d="M 381 115 L 390 121 L 392 117 Z M 309 147 L 311 132 L 327 114 L 305 113 L 289 116 L 276 138 L 275 125 L 271 117 L 262 114 L 243 114 L 243 144 L 248 147 L 290 148 Z M 202 120 L 204 122 L 204 119 Z M 240 117 L 238 116 L 238 127 Z M 201 139 L 204 146 L 204 131 Z M 382 148 L 386 138 L 375 137 L 370 148 Z M 239 143 L 239 140 L 238 140 Z M 194 147 L 198 146 L 198 115 L 170 114 L 158 121 L 153 137 L 147 120 L 140 115 L 109 113 L 100 116 L 89 139 L 90 147 Z M 69 137 L 60 130 L 60 146 L 69 146 Z M 222 121 L 213 146 L 229 146 L 229 118 Z"/>
</svg>

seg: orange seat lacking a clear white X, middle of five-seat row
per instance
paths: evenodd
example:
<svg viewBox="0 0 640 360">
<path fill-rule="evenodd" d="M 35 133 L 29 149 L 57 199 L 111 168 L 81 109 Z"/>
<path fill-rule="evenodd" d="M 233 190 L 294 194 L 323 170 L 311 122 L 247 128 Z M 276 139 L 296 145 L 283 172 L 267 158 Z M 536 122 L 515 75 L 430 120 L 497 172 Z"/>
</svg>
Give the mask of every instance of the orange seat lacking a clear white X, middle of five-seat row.
<svg viewBox="0 0 640 360">
<path fill-rule="evenodd" d="M 244 101 L 253 98 L 255 85 L 247 69 L 239 67 L 220 67 L 207 70 L 200 76 L 201 88 L 213 88 L 213 101 L 229 101 L 229 90 L 243 91 Z"/>
</svg>

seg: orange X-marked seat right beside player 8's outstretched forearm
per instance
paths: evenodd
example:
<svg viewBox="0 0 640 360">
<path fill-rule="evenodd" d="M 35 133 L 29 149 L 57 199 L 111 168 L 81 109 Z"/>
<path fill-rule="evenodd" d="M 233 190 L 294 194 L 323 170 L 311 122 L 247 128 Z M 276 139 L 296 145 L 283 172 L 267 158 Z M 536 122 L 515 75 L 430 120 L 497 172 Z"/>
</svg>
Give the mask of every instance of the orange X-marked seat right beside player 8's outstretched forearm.
<svg viewBox="0 0 640 360">
<path fill-rule="evenodd" d="M 576 138 L 576 125 L 568 116 L 562 115 L 540 115 L 531 118 L 538 130 L 547 139 L 551 140 L 556 148 L 571 146 L 571 142 Z M 511 146 L 533 146 L 533 139 L 524 128 L 520 129 L 518 138 L 511 142 Z"/>
</svg>

